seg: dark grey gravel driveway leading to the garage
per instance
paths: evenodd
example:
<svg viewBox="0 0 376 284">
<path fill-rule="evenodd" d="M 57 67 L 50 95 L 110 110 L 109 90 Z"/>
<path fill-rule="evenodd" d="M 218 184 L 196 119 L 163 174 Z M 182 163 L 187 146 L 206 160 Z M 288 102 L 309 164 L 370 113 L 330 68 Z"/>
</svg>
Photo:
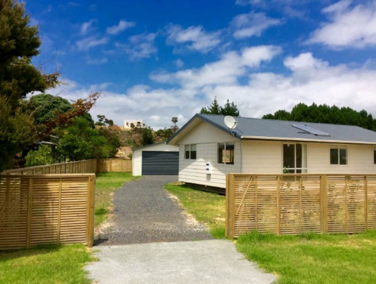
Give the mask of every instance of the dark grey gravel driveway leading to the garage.
<svg viewBox="0 0 376 284">
<path fill-rule="evenodd" d="M 176 176 L 144 176 L 114 194 L 114 216 L 95 245 L 176 242 L 212 239 L 206 227 L 187 218 L 164 185 Z"/>
</svg>

